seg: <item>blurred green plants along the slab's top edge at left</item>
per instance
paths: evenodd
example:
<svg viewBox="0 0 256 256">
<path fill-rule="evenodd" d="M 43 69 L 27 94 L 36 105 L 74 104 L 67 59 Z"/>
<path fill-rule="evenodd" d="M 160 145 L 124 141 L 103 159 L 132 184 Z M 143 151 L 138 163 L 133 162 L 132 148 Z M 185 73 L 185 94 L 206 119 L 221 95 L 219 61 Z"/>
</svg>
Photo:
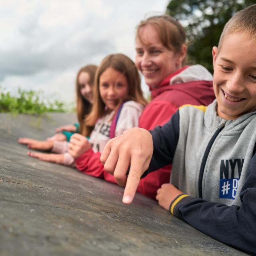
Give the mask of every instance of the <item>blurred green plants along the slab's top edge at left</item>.
<svg viewBox="0 0 256 256">
<path fill-rule="evenodd" d="M 43 93 L 33 90 L 18 89 L 18 95 L 12 96 L 10 92 L 0 87 L 0 112 L 13 114 L 41 115 L 45 112 L 67 112 L 64 102 L 44 100 Z"/>
</svg>

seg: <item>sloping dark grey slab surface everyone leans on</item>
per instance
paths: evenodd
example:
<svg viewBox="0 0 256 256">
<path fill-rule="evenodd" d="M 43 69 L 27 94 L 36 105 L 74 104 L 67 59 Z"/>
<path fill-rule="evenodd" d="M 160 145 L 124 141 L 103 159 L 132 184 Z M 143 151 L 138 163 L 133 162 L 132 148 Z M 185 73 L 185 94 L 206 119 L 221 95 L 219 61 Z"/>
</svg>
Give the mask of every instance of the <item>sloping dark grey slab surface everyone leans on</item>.
<svg viewBox="0 0 256 256">
<path fill-rule="evenodd" d="M 75 168 L 28 157 L 19 137 L 44 140 L 74 114 L 0 114 L 0 256 L 246 255 L 137 193 Z"/>
</svg>

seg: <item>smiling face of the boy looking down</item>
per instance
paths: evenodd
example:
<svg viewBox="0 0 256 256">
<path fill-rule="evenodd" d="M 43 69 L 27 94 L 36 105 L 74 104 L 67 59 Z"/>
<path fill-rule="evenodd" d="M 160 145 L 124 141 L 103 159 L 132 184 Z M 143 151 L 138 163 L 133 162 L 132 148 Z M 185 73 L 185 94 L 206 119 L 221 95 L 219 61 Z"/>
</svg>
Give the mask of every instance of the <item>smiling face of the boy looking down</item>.
<svg viewBox="0 0 256 256">
<path fill-rule="evenodd" d="M 256 110 L 256 39 L 246 33 L 227 34 L 212 56 L 218 116 L 236 119 Z"/>
</svg>

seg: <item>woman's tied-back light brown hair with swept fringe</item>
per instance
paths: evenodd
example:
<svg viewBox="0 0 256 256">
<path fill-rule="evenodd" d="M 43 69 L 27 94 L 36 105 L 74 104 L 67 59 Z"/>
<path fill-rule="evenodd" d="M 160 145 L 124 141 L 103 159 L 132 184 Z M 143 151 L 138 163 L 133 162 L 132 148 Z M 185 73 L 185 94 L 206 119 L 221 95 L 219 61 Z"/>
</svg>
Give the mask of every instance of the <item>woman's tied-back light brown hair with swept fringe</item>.
<svg viewBox="0 0 256 256">
<path fill-rule="evenodd" d="M 146 20 L 142 20 L 137 26 L 136 38 L 147 44 L 140 36 L 140 30 L 146 25 L 151 25 L 156 29 L 160 42 L 169 50 L 174 50 L 175 53 L 179 53 L 182 50 L 182 46 L 186 44 L 186 31 L 183 26 L 172 18 L 171 16 L 164 14 L 158 16 L 152 16 Z M 186 59 L 186 58 L 185 58 Z M 183 61 L 184 64 L 185 60 Z"/>
</svg>

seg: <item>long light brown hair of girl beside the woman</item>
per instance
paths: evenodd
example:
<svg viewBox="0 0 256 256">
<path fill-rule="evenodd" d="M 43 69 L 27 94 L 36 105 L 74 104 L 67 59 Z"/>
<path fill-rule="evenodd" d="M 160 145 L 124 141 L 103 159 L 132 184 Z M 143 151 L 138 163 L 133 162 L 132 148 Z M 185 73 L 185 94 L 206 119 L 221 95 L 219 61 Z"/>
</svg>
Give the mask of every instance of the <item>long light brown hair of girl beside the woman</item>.
<svg viewBox="0 0 256 256">
<path fill-rule="evenodd" d="M 92 111 L 85 119 L 85 125 L 87 127 L 94 126 L 97 119 L 106 115 L 107 113 L 105 104 L 100 97 L 99 90 L 100 76 L 107 68 L 113 68 L 126 77 L 128 82 L 128 96 L 126 100 L 133 100 L 142 104 L 143 106 L 147 104 L 140 87 L 140 75 L 134 62 L 124 54 L 110 54 L 102 60 L 96 71 L 93 88 Z"/>
</svg>

